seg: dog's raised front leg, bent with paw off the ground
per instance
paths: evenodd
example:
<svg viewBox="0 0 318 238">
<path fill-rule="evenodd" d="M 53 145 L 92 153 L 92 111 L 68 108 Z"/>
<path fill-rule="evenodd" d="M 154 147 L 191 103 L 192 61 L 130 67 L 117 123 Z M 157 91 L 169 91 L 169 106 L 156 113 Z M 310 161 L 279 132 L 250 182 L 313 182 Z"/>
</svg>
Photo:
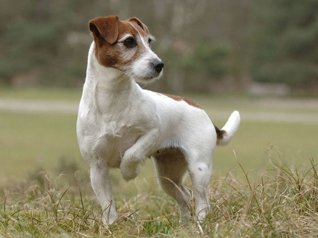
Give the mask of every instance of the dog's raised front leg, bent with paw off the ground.
<svg viewBox="0 0 318 238">
<path fill-rule="evenodd" d="M 139 164 L 149 156 L 158 136 L 159 129 L 152 129 L 139 137 L 136 143 L 125 151 L 120 163 L 120 170 L 126 181 L 135 179 L 138 176 Z"/>
</svg>

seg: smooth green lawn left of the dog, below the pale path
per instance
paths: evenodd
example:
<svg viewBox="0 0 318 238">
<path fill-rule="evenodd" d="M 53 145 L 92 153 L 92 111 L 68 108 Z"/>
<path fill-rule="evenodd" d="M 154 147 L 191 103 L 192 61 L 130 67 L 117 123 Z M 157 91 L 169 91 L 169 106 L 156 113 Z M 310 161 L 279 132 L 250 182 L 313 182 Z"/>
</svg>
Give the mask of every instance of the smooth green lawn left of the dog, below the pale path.
<svg viewBox="0 0 318 238">
<path fill-rule="evenodd" d="M 22 179 L 34 168 L 49 170 L 57 162 L 81 161 L 76 116 L 0 112 L 0 175 Z"/>
</svg>

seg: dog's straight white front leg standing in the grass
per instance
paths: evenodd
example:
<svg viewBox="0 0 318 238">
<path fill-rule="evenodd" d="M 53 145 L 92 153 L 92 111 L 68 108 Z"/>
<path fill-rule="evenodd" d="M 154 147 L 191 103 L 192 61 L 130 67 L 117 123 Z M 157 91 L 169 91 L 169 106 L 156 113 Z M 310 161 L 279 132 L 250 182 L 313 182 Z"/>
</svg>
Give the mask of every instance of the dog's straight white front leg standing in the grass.
<svg viewBox="0 0 318 238">
<path fill-rule="evenodd" d="M 90 181 L 101 205 L 105 225 L 112 224 L 118 217 L 108 171 L 98 159 L 90 165 Z"/>
</svg>

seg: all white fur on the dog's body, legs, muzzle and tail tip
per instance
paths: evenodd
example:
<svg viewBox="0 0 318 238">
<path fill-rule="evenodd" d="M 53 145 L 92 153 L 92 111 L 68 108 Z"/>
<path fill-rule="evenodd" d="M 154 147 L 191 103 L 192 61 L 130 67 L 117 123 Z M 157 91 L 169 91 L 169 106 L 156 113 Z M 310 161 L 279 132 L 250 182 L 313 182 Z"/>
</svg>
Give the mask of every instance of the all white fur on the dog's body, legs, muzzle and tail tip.
<svg viewBox="0 0 318 238">
<path fill-rule="evenodd" d="M 190 192 L 182 186 L 186 171 L 193 183 L 196 216 L 209 211 L 207 186 L 212 174 L 212 156 L 217 144 L 213 123 L 204 110 L 184 101 L 142 89 L 133 79 L 147 71 L 156 58 L 149 49 L 136 60 L 133 74 L 100 65 L 92 43 L 86 79 L 79 104 L 77 134 L 82 157 L 90 166 L 93 190 L 103 210 L 103 221 L 117 219 L 108 171 L 120 168 L 125 180 L 134 179 L 139 165 L 153 157 L 159 184 L 189 216 Z M 159 76 L 161 76 L 162 72 Z M 159 78 L 159 76 L 157 78 Z M 228 142 L 239 126 L 235 112 L 226 123 Z M 158 151 L 178 148 L 182 154 L 156 159 Z"/>
</svg>

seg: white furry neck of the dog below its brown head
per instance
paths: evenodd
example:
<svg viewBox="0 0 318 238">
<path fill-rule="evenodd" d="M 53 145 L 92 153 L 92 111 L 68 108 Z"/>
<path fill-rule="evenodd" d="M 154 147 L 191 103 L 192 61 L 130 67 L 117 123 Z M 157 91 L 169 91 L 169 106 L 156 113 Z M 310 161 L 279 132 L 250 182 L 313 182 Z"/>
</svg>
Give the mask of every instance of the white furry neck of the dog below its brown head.
<svg viewBox="0 0 318 238">
<path fill-rule="evenodd" d="M 128 103 L 136 83 L 124 72 L 104 67 L 99 64 L 95 56 L 95 43 L 89 48 L 86 79 L 83 90 L 90 97 L 91 103 L 101 113 L 116 114 L 122 112 Z M 111 112 L 111 111 L 117 112 Z"/>
</svg>

